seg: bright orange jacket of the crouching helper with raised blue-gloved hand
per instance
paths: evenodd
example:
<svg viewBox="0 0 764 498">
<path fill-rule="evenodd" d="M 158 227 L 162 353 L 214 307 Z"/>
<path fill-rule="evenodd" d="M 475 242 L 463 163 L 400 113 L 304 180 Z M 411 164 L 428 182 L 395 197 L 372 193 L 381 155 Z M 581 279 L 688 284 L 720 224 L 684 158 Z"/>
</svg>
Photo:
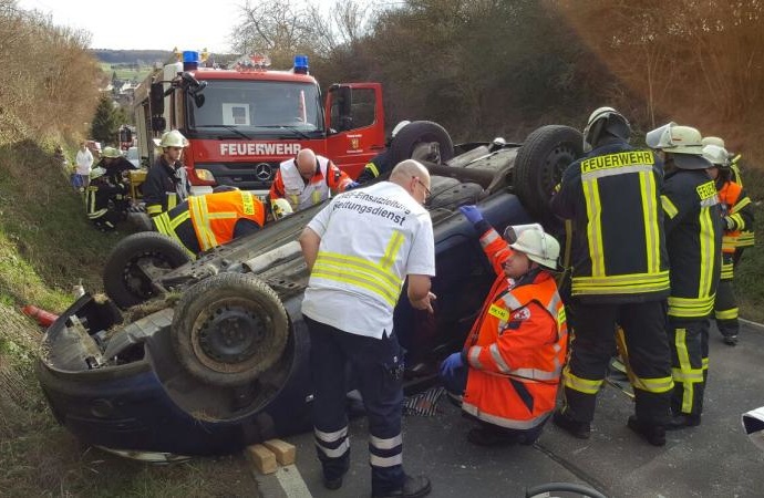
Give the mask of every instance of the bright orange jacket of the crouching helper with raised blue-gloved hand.
<svg viewBox="0 0 764 498">
<path fill-rule="evenodd" d="M 545 270 L 509 286 L 502 262 L 512 252 L 493 228 L 481 243 L 498 278 L 465 342 L 469 370 L 462 409 L 494 425 L 529 429 L 555 408 L 566 355 L 565 308 Z"/>
</svg>

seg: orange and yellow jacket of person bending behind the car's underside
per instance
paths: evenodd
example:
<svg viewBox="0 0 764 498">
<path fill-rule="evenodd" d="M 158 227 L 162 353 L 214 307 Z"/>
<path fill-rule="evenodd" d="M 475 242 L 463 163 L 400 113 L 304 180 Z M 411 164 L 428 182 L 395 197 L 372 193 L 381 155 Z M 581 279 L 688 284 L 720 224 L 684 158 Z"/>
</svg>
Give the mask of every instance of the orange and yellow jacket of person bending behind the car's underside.
<svg viewBox="0 0 764 498">
<path fill-rule="evenodd" d="M 245 190 L 190 196 L 188 215 L 203 251 L 230 242 L 236 221 L 250 219 L 260 227 L 266 221 L 262 201 Z"/>
</svg>

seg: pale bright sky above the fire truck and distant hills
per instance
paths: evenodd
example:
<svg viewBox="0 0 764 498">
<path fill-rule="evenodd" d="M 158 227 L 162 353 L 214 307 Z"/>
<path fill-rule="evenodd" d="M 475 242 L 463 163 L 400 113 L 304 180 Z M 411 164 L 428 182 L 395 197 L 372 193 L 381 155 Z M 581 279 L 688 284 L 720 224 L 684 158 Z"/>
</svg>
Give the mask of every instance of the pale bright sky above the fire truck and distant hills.
<svg viewBox="0 0 764 498">
<path fill-rule="evenodd" d="M 230 52 L 245 0 L 17 0 L 23 10 L 91 33 L 91 49 Z"/>
</svg>

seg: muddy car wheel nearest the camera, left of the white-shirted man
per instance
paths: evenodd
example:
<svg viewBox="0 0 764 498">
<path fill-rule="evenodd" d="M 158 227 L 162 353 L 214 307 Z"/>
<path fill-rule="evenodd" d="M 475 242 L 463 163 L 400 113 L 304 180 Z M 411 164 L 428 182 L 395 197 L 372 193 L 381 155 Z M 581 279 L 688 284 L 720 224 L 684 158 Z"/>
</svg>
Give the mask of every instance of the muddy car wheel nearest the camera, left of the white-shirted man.
<svg viewBox="0 0 764 498">
<path fill-rule="evenodd" d="M 287 311 L 278 294 L 252 274 L 220 273 L 180 298 L 172 341 L 180 364 L 220 386 L 256 380 L 287 345 Z"/>
</svg>

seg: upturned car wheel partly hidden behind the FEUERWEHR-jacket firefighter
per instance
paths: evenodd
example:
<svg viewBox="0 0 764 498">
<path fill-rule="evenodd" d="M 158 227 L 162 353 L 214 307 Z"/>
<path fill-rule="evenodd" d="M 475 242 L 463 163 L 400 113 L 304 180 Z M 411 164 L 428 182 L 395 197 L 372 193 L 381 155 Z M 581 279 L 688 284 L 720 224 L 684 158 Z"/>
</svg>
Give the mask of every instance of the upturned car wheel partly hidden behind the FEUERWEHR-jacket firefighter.
<svg viewBox="0 0 764 498">
<path fill-rule="evenodd" d="M 533 214 L 551 216 L 549 198 L 562 172 L 584 154 L 584 137 L 570 126 L 548 125 L 534 131 L 517 153 L 515 193 Z"/>
</svg>

